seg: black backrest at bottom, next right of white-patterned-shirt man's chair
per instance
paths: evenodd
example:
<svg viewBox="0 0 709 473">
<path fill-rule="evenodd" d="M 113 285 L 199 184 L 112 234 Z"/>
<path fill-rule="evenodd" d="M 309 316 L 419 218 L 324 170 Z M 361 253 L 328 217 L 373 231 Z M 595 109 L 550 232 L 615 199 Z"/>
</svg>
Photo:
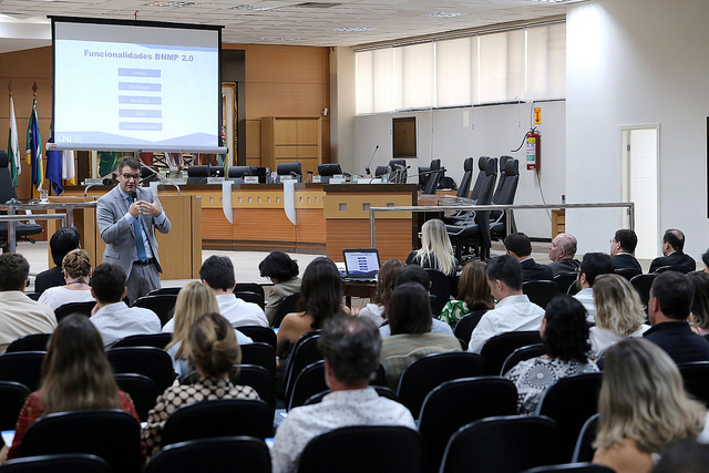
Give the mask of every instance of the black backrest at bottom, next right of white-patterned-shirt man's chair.
<svg viewBox="0 0 709 473">
<path fill-rule="evenodd" d="M 558 463 L 561 433 L 549 418 L 504 415 L 474 421 L 445 446 L 441 473 L 512 473 Z"/>
</svg>

